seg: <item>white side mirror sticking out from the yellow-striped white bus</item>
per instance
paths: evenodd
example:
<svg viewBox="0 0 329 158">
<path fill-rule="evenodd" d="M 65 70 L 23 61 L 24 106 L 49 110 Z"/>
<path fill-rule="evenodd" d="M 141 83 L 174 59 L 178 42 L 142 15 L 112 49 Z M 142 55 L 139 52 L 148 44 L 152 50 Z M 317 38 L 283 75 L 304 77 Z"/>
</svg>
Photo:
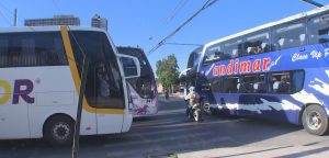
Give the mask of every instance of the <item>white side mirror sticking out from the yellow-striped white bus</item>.
<svg viewBox="0 0 329 158">
<path fill-rule="evenodd" d="M 117 55 L 124 69 L 125 79 L 140 77 L 140 64 L 138 58 L 128 55 Z"/>
</svg>

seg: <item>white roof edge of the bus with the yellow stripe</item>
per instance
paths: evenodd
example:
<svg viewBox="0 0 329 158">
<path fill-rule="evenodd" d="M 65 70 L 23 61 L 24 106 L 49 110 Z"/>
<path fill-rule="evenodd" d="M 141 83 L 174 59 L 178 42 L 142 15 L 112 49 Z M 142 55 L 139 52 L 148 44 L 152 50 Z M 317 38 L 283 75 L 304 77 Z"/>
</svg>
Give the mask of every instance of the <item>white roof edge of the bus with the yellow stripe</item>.
<svg viewBox="0 0 329 158">
<path fill-rule="evenodd" d="M 94 31 L 94 32 L 104 32 L 106 31 L 98 27 L 84 27 L 84 26 L 68 26 L 71 31 Z M 0 33 L 15 33 L 15 32 L 50 32 L 50 31 L 60 31 L 60 25 L 54 26 L 12 26 L 12 27 L 1 27 Z"/>
</svg>

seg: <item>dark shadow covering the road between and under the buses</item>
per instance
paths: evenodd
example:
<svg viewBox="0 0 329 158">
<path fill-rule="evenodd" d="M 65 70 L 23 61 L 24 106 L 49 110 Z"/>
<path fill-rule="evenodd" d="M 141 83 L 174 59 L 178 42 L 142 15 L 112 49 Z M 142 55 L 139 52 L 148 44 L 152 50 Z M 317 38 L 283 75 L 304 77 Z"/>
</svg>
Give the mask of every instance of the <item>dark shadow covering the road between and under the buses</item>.
<svg viewBox="0 0 329 158">
<path fill-rule="evenodd" d="M 238 147 L 302 131 L 291 124 L 231 116 L 205 115 L 201 123 L 190 122 L 180 99 L 160 100 L 159 109 L 158 115 L 134 119 L 128 133 L 82 137 L 79 156 L 135 158 Z M 0 142 L 1 158 L 69 156 L 69 147 L 54 148 L 42 139 Z"/>
</svg>

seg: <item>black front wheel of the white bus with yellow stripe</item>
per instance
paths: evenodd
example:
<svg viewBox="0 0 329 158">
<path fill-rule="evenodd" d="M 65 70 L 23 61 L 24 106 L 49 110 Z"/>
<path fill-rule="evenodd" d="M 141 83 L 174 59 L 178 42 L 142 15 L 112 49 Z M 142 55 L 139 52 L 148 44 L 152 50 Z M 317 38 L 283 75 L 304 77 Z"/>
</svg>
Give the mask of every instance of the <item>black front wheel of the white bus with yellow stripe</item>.
<svg viewBox="0 0 329 158">
<path fill-rule="evenodd" d="M 46 140 L 53 146 L 71 145 L 75 135 L 75 121 L 66 115 L 50 117 L 44 128 Z"/>
</svg>

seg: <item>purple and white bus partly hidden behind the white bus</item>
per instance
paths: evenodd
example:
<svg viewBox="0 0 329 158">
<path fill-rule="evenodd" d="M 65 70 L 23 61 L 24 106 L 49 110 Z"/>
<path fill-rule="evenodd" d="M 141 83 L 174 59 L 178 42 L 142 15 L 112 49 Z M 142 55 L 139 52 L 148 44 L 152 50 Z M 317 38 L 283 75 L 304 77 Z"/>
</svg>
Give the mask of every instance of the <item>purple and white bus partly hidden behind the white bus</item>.
<svg viewBox="0 0 329 158">
<path fill-rule="evenodd" d="M 140 77 L 126 79 L 133 100 L 134 116 L 149 116 L 158 113 L 158 91 L 155 74 L 143 49 L 117 47 L 120 54 L 138 58 Z M 122 60 L 125 74 L 131 71 L 131 63 Z"/>
</svg>

